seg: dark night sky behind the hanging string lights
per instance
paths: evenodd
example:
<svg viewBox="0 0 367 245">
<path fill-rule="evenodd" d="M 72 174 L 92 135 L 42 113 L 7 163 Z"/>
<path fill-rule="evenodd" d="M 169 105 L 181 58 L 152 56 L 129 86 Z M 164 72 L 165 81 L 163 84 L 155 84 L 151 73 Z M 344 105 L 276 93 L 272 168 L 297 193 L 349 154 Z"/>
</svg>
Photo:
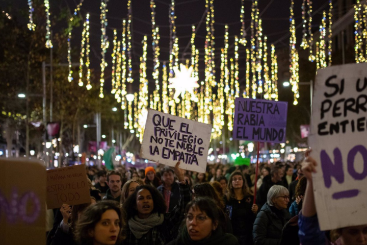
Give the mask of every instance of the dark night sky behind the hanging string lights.
<svg viewBox="0 0 367 245">
<path fill-rule="evenodd" d="M 51 17 L 60 12 L 61 8 L 69 8 L 71 12 L 80 0 L 50 0 L 50 11 Z M 6 3 L 7 2 L 7 3 Z M 152 91 L 154 89 L 154 81 L 151 77 L 152 72 L 152 47 L 151 47 L 151 9 L 150 1 L 148 0 L 133 0 L 133 78 L 135 79 L 134 87 L 139 86 L 139 57 L 142 54 L 142 39 L 144 35 L 148 36 L 148 61 L 147 61 L 147 72 L 149 87 Z M 169 59 L 169 4 L 170 0 L 155 0 L 156 3 L 156 26 L 160 28 L 160 48 L 161 55 L 160 60 Z M 302 0 L 295 0 L 295 19 L 297 28 L 298 45 L 301 41 L 302 26 L 301 22 L 301 4 Z M 10 3 L 10 4 L 9 4 Z M 259 12 L 260 17 L 263 19 L 263 33 L 268 36 L 268 44 L 274 43 L 276 51 L 287 52 L 289 48 L 289 15 L 290 15 L 290 0 L 264 0 L 259 1 Z M 19 9 L 27 9 L 26 0 L 12 0 L 4 1 L 0 3 L 0 7 L 3 9 L 9 9 L 12 6 L 10 14 L 16 16 L 20 22 L 24 25 L 27 24 L 28 19 L 20 16 Z M 83 18 L 87 12 L 90 13 L 90 45 L 91 45 L 91 68 L 95 69 L 95 81 L 94 84 L 98 84 L 99 79 L 99 63 L 101 58 L 100 49 L 100 1 L 98 0 L 85 0 L 81 8 L 80 13 Z M 216 48 L 216 64 L 217 67 L 220 66 L 220 49 L 224 46 L 224 26 L 227 23 L 229 25 L 229 57 L 233 57 L 233 42 L 234 35 L 240 36 L 241 22 L 240 22 L 240 11 L 241 11 L 241 1 L 240 0 L 215 0 L 215 48 Z M 314 1 L 312 5 L 313 9 L 313 22 L 312 29 L 313 32 L 318 30 L 319 24 L 321 22 L 322 11 L 328 9 L 327 0 L 317 0 Z M 176 1 L 176 27 L 177 36 L 179 38 L 179 56 L 183 58 L 183 51 L 186 48 L 186 59 L 190 58 L 191 47 L 188 45 L 191 38 L 191 26 L 194 24 L 196 27 L 199 25 L 199 30 L 196 35 L 195 44 L 200 51 L 200 80 L 203 80 L 203 68 L 204 68 L 204 41 L 205 41 L 205 1 L 204 0 L 177 0 Z M 251 13 L 251 1 L 245 0 L 245 25 L 247 28 L 248 38 L 250 36 L 250 13 Z M 106 86 L 111 86 L 111 54 L 112 54 L 112 41 L 113 41 L 113 29 L 118 30 L 118 39 L 121 39 L 122 33 L 122 19 L 127 16 L 127 0 L 110 0 L 108 2 L 108 30 L 107 35 L 110 41 L 110 48 L 106 54 L 106 60 L 109 65 L 106 74 Z M 27 17 L 27 16 L 26 16 Z M 201 22 L 200 20 L 203 19 Z M 57 26 L 53 26 L 52 29 L 60 29 L 66 27 L 65 23 L 58 23 Z M 81 25 L 82 26 L 82 25 Z M 56 30 L 56 31 L 58 31 Z M 82 35 L 82 27 L 75 28 L 72 32 L 71 44 L 79 50 L 80 40 Z M 248 39 L 249 40 L 249 39 Z M 270 47 L 270 45 L 269 45 Z M 243 81 L 245 66 L 245 47 L 240 45 L 240 81 Z M 78 61 L 78 56 L 72 57 L 73 62 Z M 65 63 L 67 60 L 64 61 Z M 161 63 L 162 65 L 162 63 Z M 279 64 L 282 65 L 282 64 Z M 286 64 L 287 66 L 288 64 Z M 284 67 L 286 70 L 287 68 Z M 282 67 L 279 67 L 281 70 Z M 219 70 L 217 70 L 217 79 L 219 80 Z M 76 75 L 76 72 L 74 72 Z M 279 76 L 279 79 L 286 79 Z M 74 78 L 75 81 L 75 78 Z M 282 82 L 282 81 L 279 81 Z M 106 87 L 106 89 L 109 89 Z"/>
</svg>

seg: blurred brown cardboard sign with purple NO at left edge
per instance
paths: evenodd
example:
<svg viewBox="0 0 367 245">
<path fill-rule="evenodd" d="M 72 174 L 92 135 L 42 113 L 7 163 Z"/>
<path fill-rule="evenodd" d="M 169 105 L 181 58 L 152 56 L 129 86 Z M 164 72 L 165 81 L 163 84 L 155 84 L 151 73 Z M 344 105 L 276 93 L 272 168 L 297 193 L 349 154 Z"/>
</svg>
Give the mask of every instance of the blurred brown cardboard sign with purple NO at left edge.
<svg viewBox="0 0 367 245">
<path fill-rule="evenodd" d="M 0 243 L 46 244 L 46 168 L 37 160 L 0 158 Z"/>
</svg>

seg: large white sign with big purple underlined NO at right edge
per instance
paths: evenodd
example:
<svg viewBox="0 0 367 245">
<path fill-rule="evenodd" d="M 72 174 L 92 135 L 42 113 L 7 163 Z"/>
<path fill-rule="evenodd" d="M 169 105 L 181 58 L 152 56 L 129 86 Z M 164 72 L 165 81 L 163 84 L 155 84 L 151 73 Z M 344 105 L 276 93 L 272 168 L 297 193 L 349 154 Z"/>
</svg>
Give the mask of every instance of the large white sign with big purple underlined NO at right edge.
<svg viewBox="0 0 367 245">
<path fill-rule="evenodd" d="M 367 224 L 366 104 L 366 63 L 318 70 L 308 139 L 321 230 Z"/>
</svg>

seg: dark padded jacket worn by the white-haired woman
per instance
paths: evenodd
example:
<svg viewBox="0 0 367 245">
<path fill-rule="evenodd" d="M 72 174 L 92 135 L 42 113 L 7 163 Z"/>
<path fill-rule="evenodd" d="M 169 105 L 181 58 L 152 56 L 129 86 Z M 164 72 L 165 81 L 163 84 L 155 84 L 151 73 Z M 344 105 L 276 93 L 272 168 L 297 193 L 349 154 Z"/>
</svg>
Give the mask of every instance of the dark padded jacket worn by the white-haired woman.
<svg viewBox="0 0 367 245">
<path fill-rule="evenodd" d="M 255 219 L 252 233 L 254 244 L 280 245 L 283 227 L 290 218 L 291 215 L 287 209 L 275 211 L 274 207 L 266 203 Z"/>
</svg>

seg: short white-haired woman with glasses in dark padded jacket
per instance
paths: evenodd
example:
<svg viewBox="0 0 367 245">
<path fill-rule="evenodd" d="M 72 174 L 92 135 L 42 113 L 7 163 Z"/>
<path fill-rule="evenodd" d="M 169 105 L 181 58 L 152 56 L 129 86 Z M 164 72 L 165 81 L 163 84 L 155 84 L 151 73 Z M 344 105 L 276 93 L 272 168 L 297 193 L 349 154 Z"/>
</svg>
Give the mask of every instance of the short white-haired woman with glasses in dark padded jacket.
<svg viewBox="0 0 367 245">
<path fill-rule="evenodd" d="M 255 245 L 279 245 L 284 225 L 291 215 L 287 210 L 289 191 L 280 185 L 270 188 L 267 203 L 256 216 L 253 226 Z"/>
</svg>

